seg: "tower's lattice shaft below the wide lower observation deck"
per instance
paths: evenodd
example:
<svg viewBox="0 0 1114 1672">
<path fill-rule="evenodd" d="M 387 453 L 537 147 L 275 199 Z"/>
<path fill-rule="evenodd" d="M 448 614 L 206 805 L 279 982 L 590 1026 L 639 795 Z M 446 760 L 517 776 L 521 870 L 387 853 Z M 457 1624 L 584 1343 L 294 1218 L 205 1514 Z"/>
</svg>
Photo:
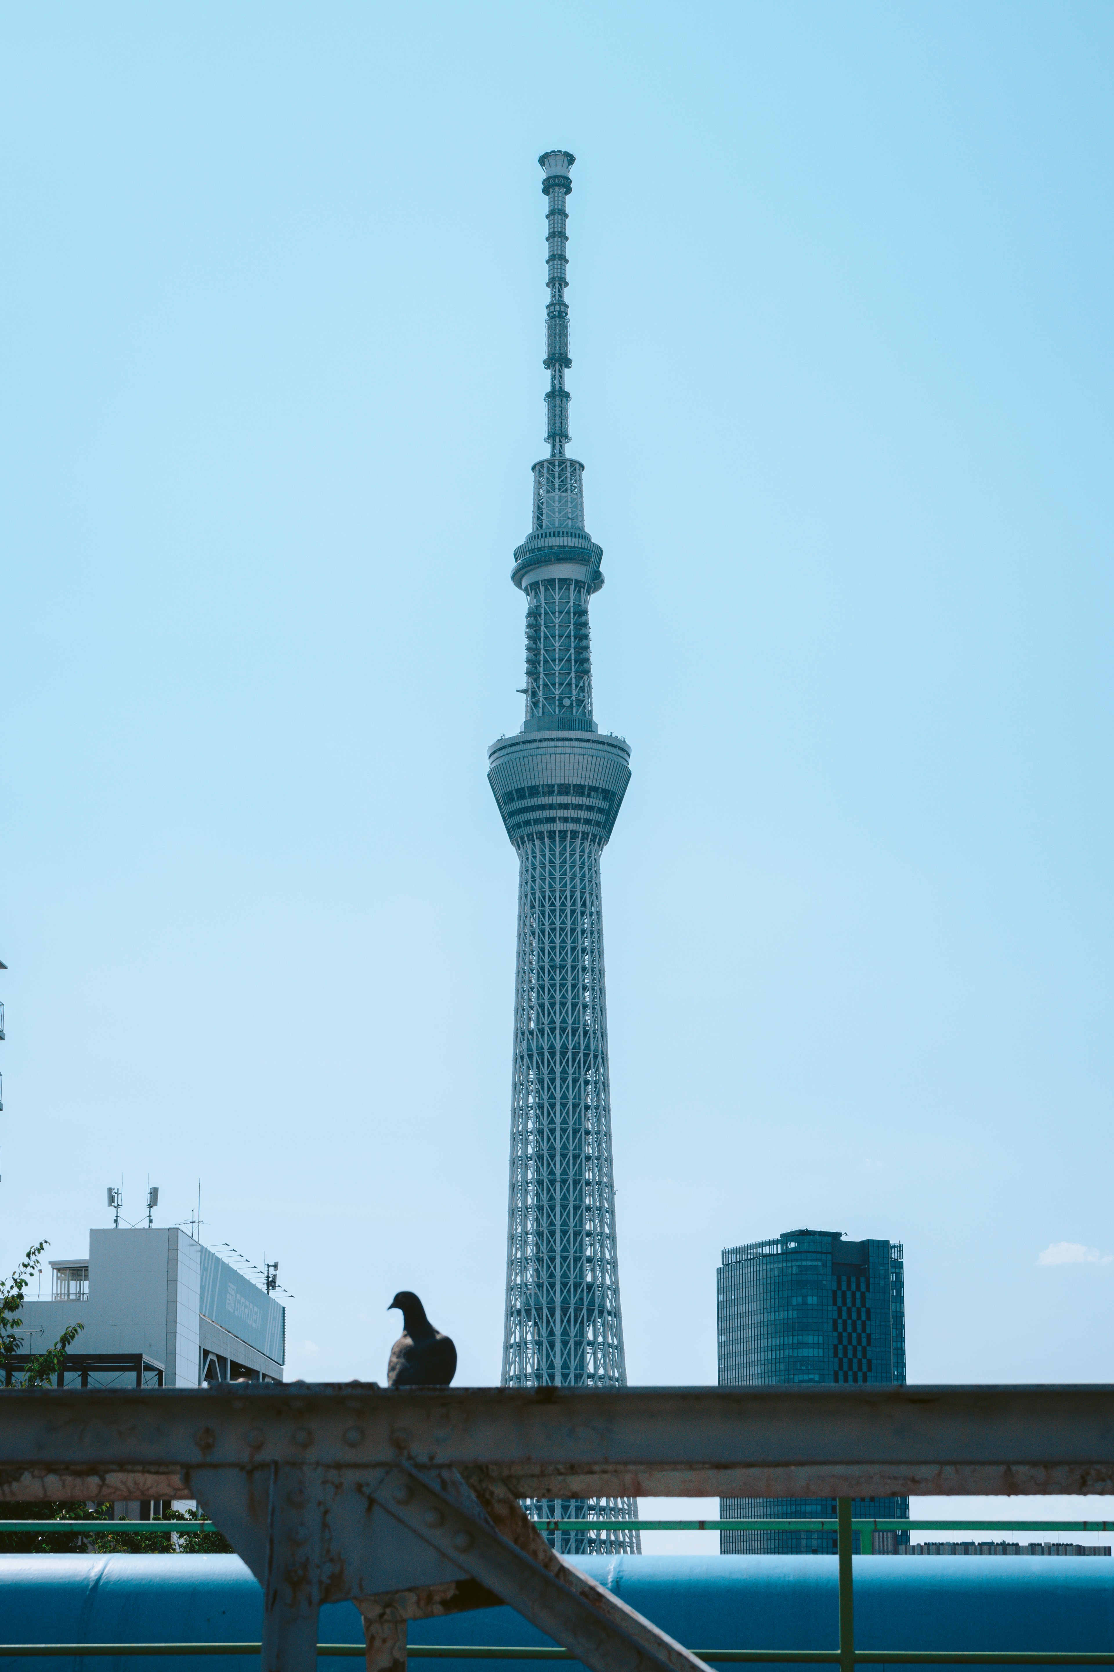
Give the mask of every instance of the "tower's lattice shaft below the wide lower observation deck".
<svg viewBox="0 0 1114 1672">
<path fill-rule="evenodd" d="M 519 849 L 506 1386 L 626 1383 L 615 1251 L 600 843 Z M 630 1500 L 531 1501 L 534 1520 L 623 1520 Z M 640 1548 L 635 1532 L 556 1532 L 558 1550 Z"/>
</svg>

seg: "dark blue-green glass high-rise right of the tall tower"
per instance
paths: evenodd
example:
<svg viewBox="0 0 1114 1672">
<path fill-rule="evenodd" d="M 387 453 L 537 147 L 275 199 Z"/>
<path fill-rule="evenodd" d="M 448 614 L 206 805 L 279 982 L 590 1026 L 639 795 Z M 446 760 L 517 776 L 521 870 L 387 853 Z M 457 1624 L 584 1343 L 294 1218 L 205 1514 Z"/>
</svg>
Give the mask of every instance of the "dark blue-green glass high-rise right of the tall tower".
<svg viewBox="0 0 1114 1672">
<path fill-rule="evenodd" d="M 905 1262 L 900 1242 L 785 1231 L 723 1249 L 715 1274 L 722 1388 L 777 1383 L 904 1383 Z M 835 1498 L 720 1498 L 722 1520 L 818 1520 Z M 909 1498 L 857 1498 L 855 1515 L 909 1517 Z M 877 1533 L 895 1550 L 907 1533 Z M 725 1553 L 835 1552 L 835 1533 L 720 1533 Z"/>
</svg>

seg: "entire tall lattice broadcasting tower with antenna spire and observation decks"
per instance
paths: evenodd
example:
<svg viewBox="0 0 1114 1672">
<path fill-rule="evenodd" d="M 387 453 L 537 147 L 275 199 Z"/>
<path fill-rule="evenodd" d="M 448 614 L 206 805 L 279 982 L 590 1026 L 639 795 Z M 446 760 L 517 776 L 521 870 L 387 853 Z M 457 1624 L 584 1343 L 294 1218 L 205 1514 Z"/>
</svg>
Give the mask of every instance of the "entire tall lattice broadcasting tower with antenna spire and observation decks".
<svg viewBox="0 0 1114 1672">
<path fill-rule="evenodd" d="M 533 528 L 511 580 L 526 594 L 526 716 L 491 744 L 488 779 L 519 858 L 511 1190 L 503 1383 L 623 1388 L 600 854 L 630 749 L 591 716 L 588 600 L 603 552 L 585 530 L 585 466 L 566 456 L 568 150 L 538 159 L 548 202 L 546 441 Z M 631 1500 L 536 1503 L 541 1520 L 625 1520 Z M 568 1552 L 636 1550 L 630 1532 L 556 1532 Z"/>
</svg>

